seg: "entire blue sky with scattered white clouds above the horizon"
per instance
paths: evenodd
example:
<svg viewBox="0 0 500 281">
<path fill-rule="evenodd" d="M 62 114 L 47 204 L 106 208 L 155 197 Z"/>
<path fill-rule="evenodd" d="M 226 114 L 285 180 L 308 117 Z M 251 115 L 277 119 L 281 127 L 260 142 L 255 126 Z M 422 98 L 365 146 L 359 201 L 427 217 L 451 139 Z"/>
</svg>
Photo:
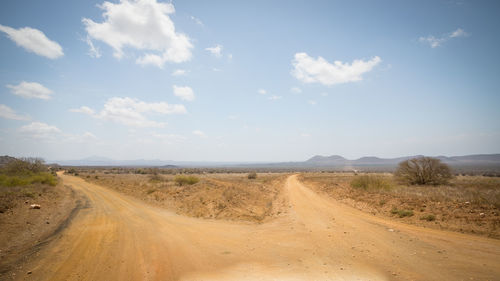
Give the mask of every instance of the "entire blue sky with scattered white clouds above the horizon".
<svg viewBox="0 0 500 281">
<path fill-rule="evenodd" d="M 497 1 L 5 0 L 0 154 L 499 153 L 499 14 Z"/>
</svg>

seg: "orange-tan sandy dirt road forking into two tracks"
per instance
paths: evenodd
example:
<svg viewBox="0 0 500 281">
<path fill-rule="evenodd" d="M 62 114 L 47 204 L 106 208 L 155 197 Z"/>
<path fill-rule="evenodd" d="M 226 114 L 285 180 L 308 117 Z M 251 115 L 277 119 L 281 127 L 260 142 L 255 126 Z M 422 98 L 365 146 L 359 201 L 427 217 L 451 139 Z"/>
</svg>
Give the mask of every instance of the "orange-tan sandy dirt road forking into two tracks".
<svg viewBox="0 0 500 281">
<path fill-rule="evenodd" d="M 194 219 L 61 175 L 88 197 L 29 280 L 500 280 L 500 241 L 366 215 L 286 182 L 265 224 Z"/>
</svg>

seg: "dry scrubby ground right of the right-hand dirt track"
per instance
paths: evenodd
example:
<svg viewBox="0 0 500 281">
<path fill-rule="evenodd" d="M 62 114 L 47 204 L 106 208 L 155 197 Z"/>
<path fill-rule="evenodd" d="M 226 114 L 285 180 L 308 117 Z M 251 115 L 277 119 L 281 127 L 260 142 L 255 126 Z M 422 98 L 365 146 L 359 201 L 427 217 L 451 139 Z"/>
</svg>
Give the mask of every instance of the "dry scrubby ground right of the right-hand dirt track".
<svg viewBox="0 0 500 281">
<path fill-rule="evenodd" d="M 363 190 L 351 187 L 354 177 L 352 173 L 308 173 L 300 179 L 321 194 L 373 215 L 500 238 L 500 178 L 459 176 L 446 186 L 394 185 L 388 190 Z M 393 209 L 410 210 L 413 215 L 400 218 L 391 212 Z"/>
</svg>

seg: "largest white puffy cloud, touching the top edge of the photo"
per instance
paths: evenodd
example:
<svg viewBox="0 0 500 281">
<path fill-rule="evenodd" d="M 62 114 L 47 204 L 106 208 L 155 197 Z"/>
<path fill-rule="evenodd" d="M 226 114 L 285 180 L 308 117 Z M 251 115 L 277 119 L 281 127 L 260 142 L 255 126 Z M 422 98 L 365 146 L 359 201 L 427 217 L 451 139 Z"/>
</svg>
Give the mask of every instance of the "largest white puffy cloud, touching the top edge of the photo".
<svg viewBox="0 0 500 281">
<path fill-rule="evenodd" d="M 187 35 L 175 31 L 169 15 L 175 13 L 171 3 L 156 0 L 121 0 L 99 6 L 104 21 L 82 20 L 88 35 L 113 48 L 113 55 L 122 58 L 127 47 L 142 51 L 136 63 L 155 65 L 180 63 L 191 59 L 193 45 Z"/>
</svg>

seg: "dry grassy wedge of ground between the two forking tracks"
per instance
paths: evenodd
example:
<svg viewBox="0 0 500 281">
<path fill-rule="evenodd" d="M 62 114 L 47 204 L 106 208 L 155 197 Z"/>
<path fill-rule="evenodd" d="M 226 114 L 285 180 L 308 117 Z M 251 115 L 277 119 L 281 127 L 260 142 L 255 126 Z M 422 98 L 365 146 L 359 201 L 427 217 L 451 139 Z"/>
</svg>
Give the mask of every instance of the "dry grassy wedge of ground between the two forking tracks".
<svg viewBox="0 0 500 281">
<path fill-rule="evenodd" d="M 201 218 L 262 222 L 283 212 L 280 190 L 286 176 L 259 174 L 196 174 L 200 182 L 179 186 L 174 175 L 80 173 L 88 182 L 131 195 L 177 214 Z"/>
</svg>

